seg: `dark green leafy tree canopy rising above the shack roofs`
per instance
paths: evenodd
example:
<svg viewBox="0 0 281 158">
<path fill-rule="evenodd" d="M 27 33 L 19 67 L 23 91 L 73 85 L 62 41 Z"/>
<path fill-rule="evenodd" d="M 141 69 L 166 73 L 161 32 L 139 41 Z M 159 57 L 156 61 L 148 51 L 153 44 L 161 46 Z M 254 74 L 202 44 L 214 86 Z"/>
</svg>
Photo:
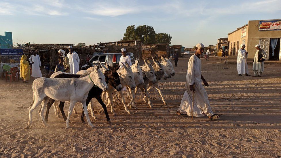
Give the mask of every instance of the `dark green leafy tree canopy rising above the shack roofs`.
<svg viewBox="0 0 281 158">
<path fill-rule="evenodd" d="M 171 44 L 172 37 L 167 33 L 156 33 L 152 26 L 140 25 L 128 26 L 122 40 L 140 40 L 143 44 L 153 43 L 169 43 Z"/>
</svg>

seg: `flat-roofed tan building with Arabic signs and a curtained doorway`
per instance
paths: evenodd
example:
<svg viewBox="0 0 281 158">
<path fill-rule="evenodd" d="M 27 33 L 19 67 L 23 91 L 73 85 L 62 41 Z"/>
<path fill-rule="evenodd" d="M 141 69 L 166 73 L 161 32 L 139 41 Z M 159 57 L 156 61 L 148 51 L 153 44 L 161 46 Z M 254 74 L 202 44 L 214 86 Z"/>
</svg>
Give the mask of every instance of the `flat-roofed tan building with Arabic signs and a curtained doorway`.
<svg viewBox="0 0 281 158">
<path fill-rule="evenodd" d="M 251 20 L 228 33 L 229 52 L 231 55 L 237 55 L 240 45 L 244 43 L 249 53 L 248 58 L 253 59 L 256 53 L 255 45 L 260 44 L 267 53 L 266 60 L 281 60 L 280 38 L 281 19 Z"/>
</svg>

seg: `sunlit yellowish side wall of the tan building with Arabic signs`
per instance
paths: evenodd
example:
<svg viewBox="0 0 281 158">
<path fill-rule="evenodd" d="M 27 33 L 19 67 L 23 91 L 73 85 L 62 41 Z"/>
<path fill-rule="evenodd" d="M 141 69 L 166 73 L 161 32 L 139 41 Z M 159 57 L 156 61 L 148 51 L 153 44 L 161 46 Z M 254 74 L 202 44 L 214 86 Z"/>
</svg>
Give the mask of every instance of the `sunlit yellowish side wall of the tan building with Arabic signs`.
<svg viewBox="0 0 281 158">
<path fill-rule="evenodd" d="M 243 28 L 245 28 L 245 27 L 246 27 L 246 36 L 243 37 L 243 38 L 241 38 L 242 28 L 237 30 L 237 31 L 235 31 L 235 32 L 233 32 L 233 33 L 231 33 L 230 35 L 228 35 L 228 41 L 229 41 L 229 50 L 228 50 L 228 52 L 229 52 L 229 54 L 231 52 L 231 43 L 232 43 L 232 48 L 233 48 L 233 43 L 235 42 L 235 48 L 236 48 L 235 55 L 237 55 L 237 52 L 238 52 L 238 50 L 237 50 L 237 41 L 239 41 L 239 45 L 242 44 L 242 41 L 244 39 L 246 40 L 245 43 L 247 43 L 248 26 L 244 26 Z M 245 45 L 246 45 L 246 50 L 247 50 L 247 44 L 245 44 Z M 233 53 L 231 52 L 231 55 L 232 54 Z"/>
</svg>

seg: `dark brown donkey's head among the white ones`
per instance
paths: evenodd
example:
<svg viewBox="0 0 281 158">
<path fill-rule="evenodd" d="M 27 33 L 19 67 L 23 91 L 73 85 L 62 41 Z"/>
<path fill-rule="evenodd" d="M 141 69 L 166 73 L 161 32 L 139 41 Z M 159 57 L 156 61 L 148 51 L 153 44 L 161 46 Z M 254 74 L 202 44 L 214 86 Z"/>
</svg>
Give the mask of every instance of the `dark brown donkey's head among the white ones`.
<svg viewBox="0 0 281 158">
<path fill-rule="evenodd" d="M 113 68 L 109 65 L 107 65 L 108 71 L 105 71 L 105 81 L 109 83 L 113 88 L 115 88 L 117 91 L 122 90 L 122 85 L 120 82 L 120 78 L 118 73 L 116 72 L 120 66 L 117 66 L 116 68 Z"/>
</svg>

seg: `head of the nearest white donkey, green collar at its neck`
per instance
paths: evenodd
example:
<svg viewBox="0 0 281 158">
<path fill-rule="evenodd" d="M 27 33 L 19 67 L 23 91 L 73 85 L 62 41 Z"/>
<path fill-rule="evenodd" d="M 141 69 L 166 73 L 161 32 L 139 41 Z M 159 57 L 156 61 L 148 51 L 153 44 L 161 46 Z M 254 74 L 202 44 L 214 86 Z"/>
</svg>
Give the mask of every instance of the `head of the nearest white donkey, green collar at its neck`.
<svg viewBox="0 0 281 158">
<path fill-rule="evenodd" d="M 90 77 L 95 85 L 103 91 L 107 90 L 107 83 L 105 82 L 105 75 L 99 69 L 100 63 L 95 67 L 94 71 L 90 73 Z"/>
</svg>

